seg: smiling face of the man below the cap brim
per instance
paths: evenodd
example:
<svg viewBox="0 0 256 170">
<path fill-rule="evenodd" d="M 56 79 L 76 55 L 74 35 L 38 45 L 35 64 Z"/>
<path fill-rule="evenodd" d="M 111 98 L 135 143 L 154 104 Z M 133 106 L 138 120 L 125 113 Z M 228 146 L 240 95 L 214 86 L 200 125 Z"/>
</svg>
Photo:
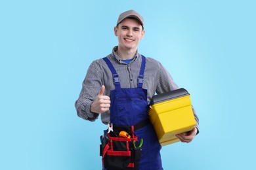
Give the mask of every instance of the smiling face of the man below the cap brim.
<svg viewBox="0 0 256 170">
<path fill-rule="evenodd" d="M 125 18 L 117 27 L 114 28 L 118 38 L 118 50 L 137 50 L 140 39 L 144 36 L 144 30 L 139 21 Z"/>
</svg>

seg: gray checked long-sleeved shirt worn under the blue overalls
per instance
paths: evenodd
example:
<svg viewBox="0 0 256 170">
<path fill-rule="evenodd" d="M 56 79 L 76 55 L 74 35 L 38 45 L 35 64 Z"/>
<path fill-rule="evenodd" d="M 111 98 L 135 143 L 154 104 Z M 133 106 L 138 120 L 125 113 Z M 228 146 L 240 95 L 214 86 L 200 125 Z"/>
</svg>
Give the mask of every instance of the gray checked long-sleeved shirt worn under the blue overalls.
<svg viewBox="0 0 256 170">
<path fill-rule="evenodd" d="M 127 64 L 121 61 L 117 56 L 117 48 L 118 47 L 115 46 L 112 50 L 112 54 L 109 54 L 107 58 L 110 59 L 117 74 L 119 75 L 121 88 L 137 88 L 137 78 L 139 76 L 142 61 L 141 55 L 137 52 L 133 61 Z M 75 109 L 77 110 L 77 115 L 79 117 L 89 121 L 95 121 L 96 118 L 98 118 L 99 114 L 90 112 L 90 108 L 91 103 L 93 103 L 98 92 L 100 92 L 102 85 L 105 86 L 104 95 L 110 96 L 110 91 L 115 89 L 112 73 L 103 59 L 96 59 L 89 66 L 87 75 L 83 80 L 83 86 L 79 94 L 79 98 L 75 101 Z M 154 94 L 176 90 L 178 86 L 159 61 L 152 58 L 146 58 L 146 68 L 142 88 L 148 90 L 147 99 L 148 103 L 150 103 Z M 110 111 L 100 115 L 104 124 L 110 123 Z M 194 116 L 197 122 L 196 127 L 198 127 L 199 120 L 195 111 Z"/>
</svg>

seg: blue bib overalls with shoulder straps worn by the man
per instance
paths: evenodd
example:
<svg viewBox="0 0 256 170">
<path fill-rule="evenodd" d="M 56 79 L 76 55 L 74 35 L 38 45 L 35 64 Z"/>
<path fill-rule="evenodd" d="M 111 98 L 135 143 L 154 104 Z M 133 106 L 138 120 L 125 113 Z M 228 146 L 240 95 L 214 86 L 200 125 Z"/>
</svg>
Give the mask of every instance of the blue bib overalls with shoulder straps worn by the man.
<svg viewBox="0 0 256 170">
<path fill-rule="evenodd" d="M 142 88 L 146 58 L 142 56 L 137 88 L 121 88 L 119 76 L 114 66 L 108 58 L 104 58 L 104 61 L 106 61 L 112 72 L 116 86 L 116 89 L 110 92 L 111 123 L 117 126 L 134 126 L 148 119 L 147 90 Z M 143 139 L 139 169 L 162 170 L 160 156 L 161 145 L 152 124 L 135 130 L 135 135 L 139 139 Z"/>
</svg>

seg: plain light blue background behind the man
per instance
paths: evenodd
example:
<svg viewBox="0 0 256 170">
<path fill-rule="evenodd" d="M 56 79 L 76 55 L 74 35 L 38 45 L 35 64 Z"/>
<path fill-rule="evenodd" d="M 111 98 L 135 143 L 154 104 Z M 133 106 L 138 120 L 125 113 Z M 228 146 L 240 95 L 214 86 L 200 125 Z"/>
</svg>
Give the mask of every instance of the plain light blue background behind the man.
<svg viewBox="0 0 256 170">
<path fill-rule="evenodd" d="M 255 1 L 1 1 L 0 169 L 100 169 L 100 120 L 74 103 L 89 64 L 137 10 L 139 51 L 186 88 L 200 118 L 190 144 L 162 148 L 164 169 L 255 167 Z"/>
</svg>

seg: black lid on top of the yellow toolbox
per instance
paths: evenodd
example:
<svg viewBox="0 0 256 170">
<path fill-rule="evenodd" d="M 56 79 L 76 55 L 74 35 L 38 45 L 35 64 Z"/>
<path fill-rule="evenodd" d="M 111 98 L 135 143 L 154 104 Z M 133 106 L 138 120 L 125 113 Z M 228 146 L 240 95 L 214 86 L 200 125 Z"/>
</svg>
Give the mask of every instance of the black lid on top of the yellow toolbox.
<svg viewBox="0 0 256 170">
<path fill-rule="evenodd" d="M 163 101 L 168 101 L 171 99 L 176 99 L 185 95 L 189 95 L 189 93 L 184 88 L 179 88 L 177 90 L 172 90 L 171 92 L 154 95 L 150 101 L 150 105 L 154 105 L 156 103 L 161 103 Z"/>
</svg>

